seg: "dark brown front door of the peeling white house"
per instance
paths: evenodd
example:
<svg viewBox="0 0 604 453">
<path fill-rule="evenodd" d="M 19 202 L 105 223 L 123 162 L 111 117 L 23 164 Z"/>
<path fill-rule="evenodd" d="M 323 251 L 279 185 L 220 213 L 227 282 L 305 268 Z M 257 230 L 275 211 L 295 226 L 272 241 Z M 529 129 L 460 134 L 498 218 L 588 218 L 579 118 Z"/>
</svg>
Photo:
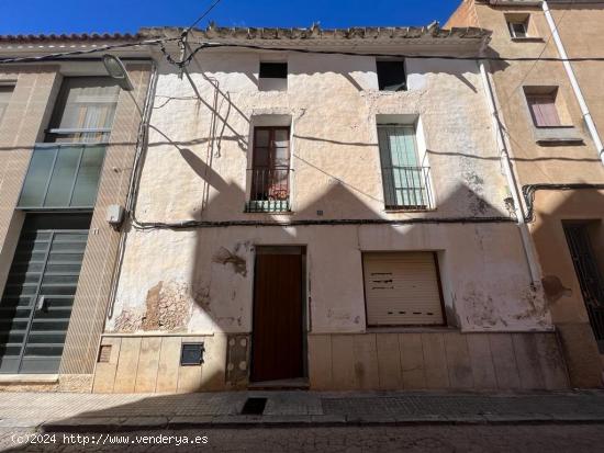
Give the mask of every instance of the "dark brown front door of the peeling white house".
<svg viewBox="0 0 604 453">
<path fill-rule="evenodd" d="M 302 252 L 258 248 L 251 381 L 303 377 Z"/>
</svg>

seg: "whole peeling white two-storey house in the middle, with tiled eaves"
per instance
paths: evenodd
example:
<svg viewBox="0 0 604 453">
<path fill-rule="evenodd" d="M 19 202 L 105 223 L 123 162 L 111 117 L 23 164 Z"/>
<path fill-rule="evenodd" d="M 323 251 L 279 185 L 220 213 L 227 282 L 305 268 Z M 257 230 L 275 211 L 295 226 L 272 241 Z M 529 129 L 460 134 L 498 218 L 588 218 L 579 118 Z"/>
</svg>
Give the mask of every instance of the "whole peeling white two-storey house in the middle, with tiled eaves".
<svg viewBox="0 0 604 453">
<path fill-rule="evenodd" d="M 155 53 L 94 392 L 568 387 L 479 65 L 388 57 L 489 35 L 212 26 L 184 70 Z"/>
</svg>

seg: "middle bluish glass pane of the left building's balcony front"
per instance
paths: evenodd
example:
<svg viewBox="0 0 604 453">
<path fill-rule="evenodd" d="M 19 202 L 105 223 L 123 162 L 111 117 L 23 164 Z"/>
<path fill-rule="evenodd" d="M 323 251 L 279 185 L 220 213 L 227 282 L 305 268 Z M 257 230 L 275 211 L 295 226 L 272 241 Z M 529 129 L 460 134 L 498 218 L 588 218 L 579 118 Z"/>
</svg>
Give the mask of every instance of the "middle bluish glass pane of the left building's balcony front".
<svg viewBox="0 0 604 453">
<path fill-rule="evenodd" d="M 81 148 L 79 146 L 59 148 L 55 169 L 51 177 L 51 185 L 48 185 L 48 194 L 44 203 L 45 206 L 69 206 L 69 196 L 71 195 L 71 186 L 76 178 Z"/>
</svg>

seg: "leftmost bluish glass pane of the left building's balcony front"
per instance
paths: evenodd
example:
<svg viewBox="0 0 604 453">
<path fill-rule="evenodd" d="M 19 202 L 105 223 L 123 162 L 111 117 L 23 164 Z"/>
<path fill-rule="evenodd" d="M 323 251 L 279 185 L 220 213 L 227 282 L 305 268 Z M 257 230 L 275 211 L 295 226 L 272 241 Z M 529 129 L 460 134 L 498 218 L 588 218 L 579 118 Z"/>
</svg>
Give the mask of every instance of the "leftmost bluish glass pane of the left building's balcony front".
<svg viewBox="0 0 604 453">
<path fill-rule="evenodd" d="M 19 199 L 20 207 L 42 206 L 44 203 L 46 183 L 53 169 L 56 151 L 56 148 L 34 149 L 21 197 Z"/>
</svg>

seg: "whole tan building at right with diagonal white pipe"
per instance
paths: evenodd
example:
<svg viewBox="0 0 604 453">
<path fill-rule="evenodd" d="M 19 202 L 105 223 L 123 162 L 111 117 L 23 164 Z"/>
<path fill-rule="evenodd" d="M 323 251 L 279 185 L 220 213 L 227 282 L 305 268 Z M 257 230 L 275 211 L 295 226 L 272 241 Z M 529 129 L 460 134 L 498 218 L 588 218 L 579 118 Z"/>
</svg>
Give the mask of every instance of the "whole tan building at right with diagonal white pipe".
<svg viewBox="0 0 604 453">
<path fill-rule="evenodd" d="M 604 63 L 543 59 L 602 57 L 603 21 L 602 1 L 466 0 L 447 24 L 492 30 L 489 56 L 541 58 L 490 68 L 575 387 L 601 386 L 604 365 Z"/>
</svg>

